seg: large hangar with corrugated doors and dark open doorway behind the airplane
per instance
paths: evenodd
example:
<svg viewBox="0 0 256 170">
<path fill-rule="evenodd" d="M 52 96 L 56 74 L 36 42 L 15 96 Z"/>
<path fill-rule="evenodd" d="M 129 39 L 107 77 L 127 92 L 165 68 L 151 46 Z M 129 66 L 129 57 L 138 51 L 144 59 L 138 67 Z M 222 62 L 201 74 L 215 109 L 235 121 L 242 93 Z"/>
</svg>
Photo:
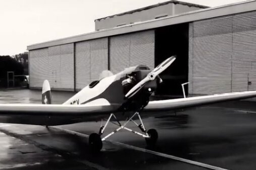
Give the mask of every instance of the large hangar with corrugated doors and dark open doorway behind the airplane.
<svg viewBox="0 0 256 170">
<path fill-rule="evenodd" d="M 169 1 L 95 20 L 95 31 L 29 45 L 30 89 L 78 92 L 99 73 L 176 61 L 157 94 L 256 90 L 256 1 L 208 8 Z"/>
</svg>

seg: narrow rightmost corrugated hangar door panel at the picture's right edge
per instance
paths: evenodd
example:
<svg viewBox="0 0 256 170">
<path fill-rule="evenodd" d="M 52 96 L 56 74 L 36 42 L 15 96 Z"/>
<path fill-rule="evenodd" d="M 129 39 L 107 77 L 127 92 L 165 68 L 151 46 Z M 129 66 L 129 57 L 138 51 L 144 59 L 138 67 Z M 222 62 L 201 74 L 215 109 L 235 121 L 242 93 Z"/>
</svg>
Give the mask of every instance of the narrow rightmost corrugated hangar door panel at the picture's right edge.
<svg viewBox="0 0 256 170">
<path fill-rule="evenodd" d="M 256 90 L 256 12 L 233 19 L 232 91 Z"/>
</svg>

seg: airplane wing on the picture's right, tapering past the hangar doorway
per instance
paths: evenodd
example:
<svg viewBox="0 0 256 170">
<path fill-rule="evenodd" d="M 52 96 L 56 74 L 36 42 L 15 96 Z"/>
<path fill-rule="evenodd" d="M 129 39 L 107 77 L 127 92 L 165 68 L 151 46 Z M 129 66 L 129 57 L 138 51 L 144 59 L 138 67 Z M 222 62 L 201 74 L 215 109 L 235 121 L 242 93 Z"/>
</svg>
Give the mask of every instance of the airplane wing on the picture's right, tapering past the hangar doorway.
<svg viewBox="0 0 256 170">
<path fill-rule="evenodd" d="M 214 104 L 214 103 L 239 100 L 239 99 L 247 99 L 247 98 L 253 98 L 253 97 L 256 97 L 256 91 L 199 96 L 199 97 L 171 99 L 171 100 L 162 100 L 162 101 L 151 101 L 144 108 L 143 112 L 176 110 L 176 109 L 196 107 L 201 105 Z"/>
</svg>

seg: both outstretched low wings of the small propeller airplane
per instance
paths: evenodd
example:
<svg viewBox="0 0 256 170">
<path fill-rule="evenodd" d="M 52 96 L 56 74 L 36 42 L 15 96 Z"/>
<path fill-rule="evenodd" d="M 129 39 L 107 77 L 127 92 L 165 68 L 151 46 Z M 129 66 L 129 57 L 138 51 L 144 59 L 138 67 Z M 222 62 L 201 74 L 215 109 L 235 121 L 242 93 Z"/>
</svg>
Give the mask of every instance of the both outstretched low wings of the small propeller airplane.
<svg viewBox="0 0 256 170">
<path fill-rule="evenodd" d="M 143 112 L 170 111 L 253 97 L 256 97 L 256 91 L 151 101 Z M 106 115 L 115 113 L 118 107 L 120 105 L 0 104 L 0 122 L 53 126 L 100 121 Z"/>
</svg>

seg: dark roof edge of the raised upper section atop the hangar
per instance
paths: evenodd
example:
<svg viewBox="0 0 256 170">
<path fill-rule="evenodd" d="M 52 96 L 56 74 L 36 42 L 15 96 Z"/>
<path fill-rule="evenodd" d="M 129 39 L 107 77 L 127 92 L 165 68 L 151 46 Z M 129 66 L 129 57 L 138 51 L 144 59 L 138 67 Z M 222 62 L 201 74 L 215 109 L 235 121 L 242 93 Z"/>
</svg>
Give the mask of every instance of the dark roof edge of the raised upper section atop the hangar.
<svg viewBox="0 0 256 170">
<path fill-rule="evenodd" d="M 181 5 L 185 5 L 185 6 L 189 6 L 189 7 L 198 7 L 198 8 L 202 8 L 202 9 L 209 8 L 207 6 L 201 6 L 201 5 L 197 5 L 197 4 L 190 4 L 190 3 L 184 3 L 184 2 L 172 0 L 172 1 L 167 1 L 167 2 L 164 2 L 164 3 L 159 3 L 159 4 L 151 5 L 151 6 L 139 8 L 139 9 L 136 9 L 136 10 L 132 10 L 132 11 L 128 11 L 128 12 L 124 12 L 124 13 L 120 13 L 120 14 L 115 14 L 115 15 L 108 16 L 108 17 L 99 18 L 99 19 L 96 19 L 94 21 L 99 21 L 99 20 L 106 19 L 106 18 L 113 18 L 115 16 L 122 16 L 122 15 L 126 15 L 126 14 L 132 14 L 132 13 L 135 13 L 135 12 L 139 12 L 139 11 L 143 11 L 143 10 L 148 10 L 148 9 L 159 7 L 159 6 L 164 6 L 164 5 L 171 4 L 171 3 L 173 3 L 173 4 L 181 4 Z"/>
</svg>

